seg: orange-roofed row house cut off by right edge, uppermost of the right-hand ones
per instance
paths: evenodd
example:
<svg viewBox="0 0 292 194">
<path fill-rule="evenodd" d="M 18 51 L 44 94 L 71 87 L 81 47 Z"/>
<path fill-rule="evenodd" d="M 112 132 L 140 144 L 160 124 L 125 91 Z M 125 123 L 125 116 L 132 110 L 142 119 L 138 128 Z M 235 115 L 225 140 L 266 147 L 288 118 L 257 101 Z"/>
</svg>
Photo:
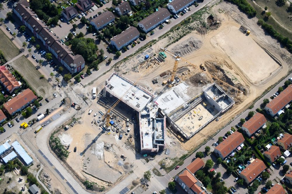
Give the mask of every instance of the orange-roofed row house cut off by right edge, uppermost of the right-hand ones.
<svg viewBox="0 0 292 194">
<path fill-rule="evenodd" d="M 266 107 L 265 111 L 272 117 L 279 116 L 284 111 L 286 105 L 288 105 L 292 100 L 292 84 L 284 89 L 277 97 L 270 101 Z"/>
</svg>

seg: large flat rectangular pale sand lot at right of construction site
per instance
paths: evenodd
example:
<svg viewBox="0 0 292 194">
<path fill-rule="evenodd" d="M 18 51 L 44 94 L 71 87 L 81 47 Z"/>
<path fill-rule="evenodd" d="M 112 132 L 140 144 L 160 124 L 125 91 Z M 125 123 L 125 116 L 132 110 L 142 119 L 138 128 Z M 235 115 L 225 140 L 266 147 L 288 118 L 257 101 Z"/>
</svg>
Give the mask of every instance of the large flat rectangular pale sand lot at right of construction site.
<svg viewBox="0 0 292 194">
<path fill-rule="evenodd" d="M 253 83 L 265 80 L 280 66 L 249 36 L 231 26 L 211 38 Z"/>
</svg>

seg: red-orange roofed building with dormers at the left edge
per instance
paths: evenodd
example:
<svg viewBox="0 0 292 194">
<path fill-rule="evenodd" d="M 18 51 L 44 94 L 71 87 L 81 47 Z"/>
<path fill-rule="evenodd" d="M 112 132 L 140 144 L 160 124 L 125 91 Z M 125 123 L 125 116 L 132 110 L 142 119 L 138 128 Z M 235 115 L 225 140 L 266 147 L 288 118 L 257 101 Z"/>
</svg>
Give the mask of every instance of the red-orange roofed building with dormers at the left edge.
<svg viewBox="0 0 292 194">
<path fill-rule="evenodd" d="M 21 86 L 21 82 L 18 82 L 5 66 L 0 66 L 0 83 L 10 94 Z"/>
</svg>

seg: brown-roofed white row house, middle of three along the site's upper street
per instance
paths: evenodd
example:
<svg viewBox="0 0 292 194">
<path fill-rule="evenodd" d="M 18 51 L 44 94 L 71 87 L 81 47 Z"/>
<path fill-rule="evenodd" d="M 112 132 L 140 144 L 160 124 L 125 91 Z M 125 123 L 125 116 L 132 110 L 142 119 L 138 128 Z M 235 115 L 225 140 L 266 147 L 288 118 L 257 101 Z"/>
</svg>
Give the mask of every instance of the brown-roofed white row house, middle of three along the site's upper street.
<svg viewBox="0 0 292 194">
<path fill-rule="evenodd" d="M 152 29 L 156 28 L 158 25 L 165 22 L 165 20 L 169 19 L 170 13 L 168 9 L 161 8 L 158 11 L 152 13 L 148 17 L 144 18 L 138 23 L 138 26 L 142 31 L 145 33 L 151 31 Z"/>
</svg>

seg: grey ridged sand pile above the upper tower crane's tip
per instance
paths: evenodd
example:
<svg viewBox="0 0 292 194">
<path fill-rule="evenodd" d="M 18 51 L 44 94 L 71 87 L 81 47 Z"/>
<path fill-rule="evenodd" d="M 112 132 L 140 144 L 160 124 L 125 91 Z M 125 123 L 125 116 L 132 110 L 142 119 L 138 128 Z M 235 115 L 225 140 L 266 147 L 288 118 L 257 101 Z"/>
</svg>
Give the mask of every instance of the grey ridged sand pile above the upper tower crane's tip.
<svg viewBox="0 0 292 194">
<path fill-rule="evenodd" d="M 203 43 L 201 40 L 199 40 L 197 37 L 192 36 L 184 42 L 175 45 L 171 52 L 183 56 L 192 53 L 194 50 L 198 50 L 199 48 L 201 48 L 202 44 Z"/>
</svg>

